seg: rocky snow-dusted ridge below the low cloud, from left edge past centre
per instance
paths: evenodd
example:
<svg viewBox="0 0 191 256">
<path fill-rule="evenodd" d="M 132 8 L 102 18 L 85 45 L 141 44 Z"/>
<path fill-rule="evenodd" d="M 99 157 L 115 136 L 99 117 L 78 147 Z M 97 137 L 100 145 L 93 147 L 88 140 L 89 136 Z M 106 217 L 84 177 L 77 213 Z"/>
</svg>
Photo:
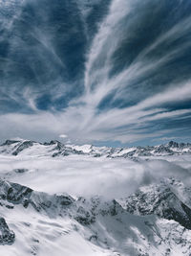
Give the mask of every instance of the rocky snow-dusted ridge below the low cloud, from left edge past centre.
<svg viewBox="0 0 191 256">
<path fill-rule="evenodd" d="M 66 194 L 57 196 L 34 192 L 20 184 L 0 180 L 0 205 L 13 209 L 18 204 L 25 208 L 31 206 L 35 211 L 45 213 L 51 218 L 68 216 L 82 224 L 95 222 L 97 215 L 115 216 L 124 211 L 116 200 L 104 201 L 99 197 L 74 200 Z"/>
</svg>

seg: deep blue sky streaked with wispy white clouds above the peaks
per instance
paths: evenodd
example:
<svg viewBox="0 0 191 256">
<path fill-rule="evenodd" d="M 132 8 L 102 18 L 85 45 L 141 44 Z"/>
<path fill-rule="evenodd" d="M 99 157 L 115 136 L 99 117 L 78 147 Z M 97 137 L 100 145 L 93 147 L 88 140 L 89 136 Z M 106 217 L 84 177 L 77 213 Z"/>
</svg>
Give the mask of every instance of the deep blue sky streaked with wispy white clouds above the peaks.
<svg viewBox="0 0 191 256">
<path fill-rule="evenodd" d="M 191 142 L 191 2 L 0 0 L 0 141 Z"/>
</svg>

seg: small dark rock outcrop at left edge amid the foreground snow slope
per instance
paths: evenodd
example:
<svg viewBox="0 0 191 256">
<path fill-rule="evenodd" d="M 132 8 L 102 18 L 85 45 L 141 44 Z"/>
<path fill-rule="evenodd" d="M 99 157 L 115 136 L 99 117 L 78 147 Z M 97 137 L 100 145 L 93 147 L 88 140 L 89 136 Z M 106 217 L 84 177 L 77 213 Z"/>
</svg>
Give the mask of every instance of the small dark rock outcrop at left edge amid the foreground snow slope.
<svg viewBox="0 0 191 256">
<path fill-rule="evenodd" d="M 0 218 L 0 244 L 13 244 L 15 240 L 14 232 L 10 230 L 4 218 Z"/>
</svg>

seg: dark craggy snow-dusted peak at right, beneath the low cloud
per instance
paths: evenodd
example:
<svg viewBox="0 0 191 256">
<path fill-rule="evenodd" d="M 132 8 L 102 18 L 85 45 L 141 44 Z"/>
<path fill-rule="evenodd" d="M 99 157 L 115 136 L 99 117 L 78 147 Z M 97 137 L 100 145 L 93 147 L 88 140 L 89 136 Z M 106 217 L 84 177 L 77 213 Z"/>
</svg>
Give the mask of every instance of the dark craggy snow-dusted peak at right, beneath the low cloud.
<svg viewBox="0 0 191 256">
<path fill-rule="evenodd" d="M 125 209 L 131 214 L 151 215 L 178 221 L 191 229 L 191 209 L 182 202 L 172 186 L 161 182 L 140 188 L 136 194 L 123 200 Z"/>
</svg>

